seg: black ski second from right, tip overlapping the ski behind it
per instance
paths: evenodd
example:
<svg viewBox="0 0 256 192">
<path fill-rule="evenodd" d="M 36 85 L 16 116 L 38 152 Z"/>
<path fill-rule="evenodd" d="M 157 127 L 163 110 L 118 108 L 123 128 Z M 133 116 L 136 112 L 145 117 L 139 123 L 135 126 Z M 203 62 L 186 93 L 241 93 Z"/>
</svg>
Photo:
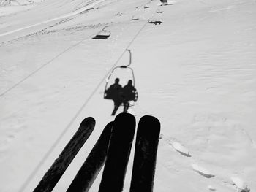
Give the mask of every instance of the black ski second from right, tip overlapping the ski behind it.
<svg viewBox="0 0 256 192">
<path fill-rule="evenodd" d="M 129 113 L 117 115 L 113 123 L 99 192 L 122 191 L 134 134 L 135 117 Z"/>
</svg>

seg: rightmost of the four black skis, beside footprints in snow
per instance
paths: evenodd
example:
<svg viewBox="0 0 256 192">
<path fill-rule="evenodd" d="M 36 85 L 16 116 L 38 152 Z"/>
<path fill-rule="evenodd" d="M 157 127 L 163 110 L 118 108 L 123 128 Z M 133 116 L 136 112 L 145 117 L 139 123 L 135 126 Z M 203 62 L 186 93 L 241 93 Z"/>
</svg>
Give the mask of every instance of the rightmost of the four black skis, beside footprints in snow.
<svg viewBox="0 0 256 192">
<path fill-rule="evenodd" d="M 143 116 L 138 123 L 130 192 L 152 192 L 157 160 L 160 122 Z"/>
</svg>

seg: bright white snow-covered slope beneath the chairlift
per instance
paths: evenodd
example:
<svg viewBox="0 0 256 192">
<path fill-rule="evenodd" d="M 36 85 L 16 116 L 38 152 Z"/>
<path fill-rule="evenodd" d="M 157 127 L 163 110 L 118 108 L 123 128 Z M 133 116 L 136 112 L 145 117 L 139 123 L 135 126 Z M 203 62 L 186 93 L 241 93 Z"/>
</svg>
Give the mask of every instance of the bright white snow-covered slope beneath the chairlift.
<svg viewBox="0 0 256 192">
<path fill-rule="evenodd" d="M 0 7 L 0 191 L 33 191 L 92 116 L 93 134 L 53 191 L 67 190 L 114 118 L 105 79 L 128 63 L 127 48 L 139 93 L 130 112 L 162 124 L 154 191 L 256 191 L 255 0 L 36 2 Z M 91 39 L 105 26 L 108 39 Z"/>
</svg>

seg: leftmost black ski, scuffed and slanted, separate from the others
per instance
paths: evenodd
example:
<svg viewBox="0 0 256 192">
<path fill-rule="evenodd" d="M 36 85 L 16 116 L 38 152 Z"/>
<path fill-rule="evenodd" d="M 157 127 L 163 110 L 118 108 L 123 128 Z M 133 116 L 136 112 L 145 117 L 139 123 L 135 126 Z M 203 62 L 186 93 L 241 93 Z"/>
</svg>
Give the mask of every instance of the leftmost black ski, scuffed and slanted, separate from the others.
<svg viewBox="0 0 256 192">
<path fill-rule="evenodd" d="M 75 133 L 72 139 L 70 139 L 66 147 L 64 147 L 64 150 L 62 150 L 61 154 L 54 161 L 53 165 L 50 166 L 48 172 L 46 172 L 44 177 L 42 177 L 42 180 L 34 189 L 34 192 L 50 192 L 53 190 L 62 174 L 64 174 L 71 161 L 75 158 L 75 155 L 77 155 L 80 148 L 91 135 L 91 132 L 94 130 L 94 126 L 94 118 L 89 117 L 82 121 L 78 131 Z"/>
</svg>

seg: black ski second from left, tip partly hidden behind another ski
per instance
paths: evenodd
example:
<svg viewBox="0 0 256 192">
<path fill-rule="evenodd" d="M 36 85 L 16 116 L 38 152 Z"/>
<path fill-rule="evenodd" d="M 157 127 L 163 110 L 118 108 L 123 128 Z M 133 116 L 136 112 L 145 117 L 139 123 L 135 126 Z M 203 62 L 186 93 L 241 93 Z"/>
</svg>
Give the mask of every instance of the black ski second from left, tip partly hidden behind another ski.
<svg viewBox="0 0 256 192">
<path fill-rule="evenodd" d="M 67 192 L 89 191 L 105 163 L 112 128 L 113 122 L 110 122 L 102 131 L 102 134 L 91 150 L 91 153 L 86 158 L 86 161 L 81 166 L 71 185 L 69 185 Z"/>
</svg>

